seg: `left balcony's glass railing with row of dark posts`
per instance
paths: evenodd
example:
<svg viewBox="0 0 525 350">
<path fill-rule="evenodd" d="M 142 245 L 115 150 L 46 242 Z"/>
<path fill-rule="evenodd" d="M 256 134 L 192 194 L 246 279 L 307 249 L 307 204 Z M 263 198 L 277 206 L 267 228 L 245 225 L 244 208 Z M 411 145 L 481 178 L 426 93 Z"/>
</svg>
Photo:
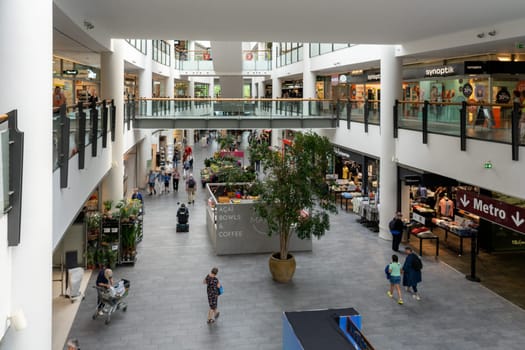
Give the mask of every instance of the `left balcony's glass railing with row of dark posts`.
<svg viewBox="0 0 525 350">
<path fill-rule="evenodd" d="M 60 187 L 67 187 L 69 159 L 78 154 L 84 169 L 86 149 L 97 156 L 98 139 L 107 147 L 107 135 L 115 140 L 116 107 L 113 100 L 62 105 L 53 108 L 53 171 L 60 169 Z"/>
</svg>

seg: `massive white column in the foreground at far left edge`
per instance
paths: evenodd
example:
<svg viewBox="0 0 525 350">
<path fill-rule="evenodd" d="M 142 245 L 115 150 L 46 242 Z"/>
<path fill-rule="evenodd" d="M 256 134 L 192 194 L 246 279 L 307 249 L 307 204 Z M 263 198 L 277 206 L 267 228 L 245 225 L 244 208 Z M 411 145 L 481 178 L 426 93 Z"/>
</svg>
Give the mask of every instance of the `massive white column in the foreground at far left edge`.
<svg viewBox="0 0 525 350">
<path fill-rule="evenodd" d="M 0 338 L 13 312 L 27 320 L 24 330 L 9 329 L 2 350 L 51 349 L 52 189 L 59 186 L 52 181 L 52 28 L 53 1 L 0 1 L 0 76 L 9 86 L 0 113 L 16 109 L 24 132 L 20 245 L 7 247 L 7 214 L 0 217 Z M 31 98 L 28 82 L 37 91 Z"/>
</svg>

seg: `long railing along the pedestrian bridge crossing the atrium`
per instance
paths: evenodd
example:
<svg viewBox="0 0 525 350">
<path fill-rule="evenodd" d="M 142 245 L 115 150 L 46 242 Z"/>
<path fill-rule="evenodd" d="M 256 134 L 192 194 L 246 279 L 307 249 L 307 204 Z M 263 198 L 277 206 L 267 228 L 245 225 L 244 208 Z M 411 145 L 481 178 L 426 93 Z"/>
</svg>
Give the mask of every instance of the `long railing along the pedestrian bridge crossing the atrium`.
<svg viewBox="0 0 525 350">
<path fill-rule="evenodd" d="M 333 128 L 335 102 L 318 99 L 140 98 L 136 128 Z"/>
</svg>

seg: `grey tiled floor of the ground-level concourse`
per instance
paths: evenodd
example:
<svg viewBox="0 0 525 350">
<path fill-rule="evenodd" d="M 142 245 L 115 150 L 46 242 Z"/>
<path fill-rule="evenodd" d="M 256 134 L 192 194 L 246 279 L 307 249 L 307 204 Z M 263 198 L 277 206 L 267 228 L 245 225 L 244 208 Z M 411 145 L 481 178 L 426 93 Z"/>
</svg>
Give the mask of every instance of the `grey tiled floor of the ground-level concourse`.
<svg viewBox="0 0 525 350">
<path fill-rule="evenodd" d="M 196 146 L 195 164 L 203 152 Z M 198 173 L 195 171 L 195 173 Z M 280 349 L 284 310 L 354 307 L 377 349 L 522 349 L 525 311 L 469 282 L 433 257 L 423 259 L 422 300 L 386 295 L 384 266 L 390 242 L 355 220 L 332 216 L 331 231 L 310 253 L 296 254 L 293 282 L 278 284 L 268 255 L 216 256 L 207 236 L 204 191 L 190 208 L 190 232 L 175 232 L 176 202 L 183 193 L 146 198 L 144 241 L 134 267 L 115 276 L 131 280 L 127 313 L 109 326 L 91 319 L 96 295 L 87 289 L 70 337 L 95 349 Z M 221 318 L 206 324 L 202 279 L 218 266 L 225 294 Z M 93 283 L 93 277 L 92 281 Z"/>
</svg>

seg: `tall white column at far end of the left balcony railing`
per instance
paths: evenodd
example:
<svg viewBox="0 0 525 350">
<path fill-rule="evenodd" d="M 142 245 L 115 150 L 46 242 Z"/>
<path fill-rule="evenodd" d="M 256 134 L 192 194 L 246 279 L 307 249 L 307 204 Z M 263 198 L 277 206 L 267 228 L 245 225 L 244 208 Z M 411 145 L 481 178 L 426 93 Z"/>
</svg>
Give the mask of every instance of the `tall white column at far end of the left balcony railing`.
<svg viewBox="0 0 525 350">
<path fill-rule="evenodd" d="M 124 131 L 124 58 L 121 40 L 112 40 L 113 52 L 103 52 L 100 57 L 102 98 L 115 99 L 115 141 L 111 142 L 112 166 L 102 182 L 102 200 L 122 199 L 124 194 L 123 131 Z"/>
</svg>

